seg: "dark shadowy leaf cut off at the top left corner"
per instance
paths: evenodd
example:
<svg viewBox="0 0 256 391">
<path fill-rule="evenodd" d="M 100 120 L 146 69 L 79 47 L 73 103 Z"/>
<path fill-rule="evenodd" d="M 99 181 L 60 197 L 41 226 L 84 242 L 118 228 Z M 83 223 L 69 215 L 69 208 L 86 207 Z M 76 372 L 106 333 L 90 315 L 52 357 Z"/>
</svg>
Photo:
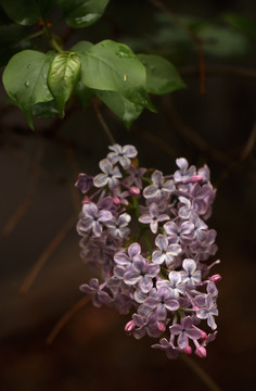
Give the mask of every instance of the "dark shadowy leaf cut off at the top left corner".
<svg viewBox="0 0 256 391">
<path fill-rule="evenodd" d="M 14 22 L 29 26 L 42 17 L 54 0 L 0 0 L 0 4 Z"/>
</svg>

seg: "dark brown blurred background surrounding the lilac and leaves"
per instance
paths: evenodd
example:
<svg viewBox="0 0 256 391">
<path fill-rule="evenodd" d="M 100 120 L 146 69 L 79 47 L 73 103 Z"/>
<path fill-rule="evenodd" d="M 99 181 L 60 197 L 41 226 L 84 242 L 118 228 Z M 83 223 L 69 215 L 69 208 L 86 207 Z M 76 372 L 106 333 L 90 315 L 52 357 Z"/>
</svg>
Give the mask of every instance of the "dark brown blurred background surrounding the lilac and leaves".
<svg viewBox="0 0 256 391">
<path fill-rule="evenodd" d="M 130 130 L 103 104 L 105 122 L 120 144 L 132 143 L 141 166 L 175 169 L 175 159 L 208 164 L 217 198 L 209 226 L 218 232 L 221 264 L 217 340 L 206 360 L 193 360 L 221 390 L 255 388 L 256 67 L 253 0 L 165 1 L 204 42 L 206 91 L 200 93 L 195 42 L 148 1 L 111 1 L 103 18 L 85 30 L 56 30 L 67 47 L 87 39 L 127 42 L 176 64 L 188 88 L 152 97 L 157 114 L 144 112 Z M 244 28 L 231 14 L 244 17 Z M 229 15 L 229 16 L 227 16 Z M 205 23 L 202 24 L 202 21 Z M 231 21 L 231 22 L 228 22 Z M 247 29 L 246 29 L 247 26 Z M 251 27 L 249 27 L 251 26 Z M 171 33 L 174 31 L 174 34 Z M 129 316 L 89 303 L 51 345 L 46 338 L 82 294 L 93 272 L 79 258 L 76 217 L 80 172 L 99 173 L 108 141 L 89 105 L 77 102 L 63 121 L 37 119 L 0 103 L 0 389 L 3 391 L 206 390 L 180 360 L 169 361 L 124 332 Z M 38 264 L 39 262 L 39 264 Z M 26 286 L 34 265 L 35 279 Z M 27 281 L 27 280 L 26 280 Z M 21 289 L 22 293 L 21 294 Z"/>
</svg>

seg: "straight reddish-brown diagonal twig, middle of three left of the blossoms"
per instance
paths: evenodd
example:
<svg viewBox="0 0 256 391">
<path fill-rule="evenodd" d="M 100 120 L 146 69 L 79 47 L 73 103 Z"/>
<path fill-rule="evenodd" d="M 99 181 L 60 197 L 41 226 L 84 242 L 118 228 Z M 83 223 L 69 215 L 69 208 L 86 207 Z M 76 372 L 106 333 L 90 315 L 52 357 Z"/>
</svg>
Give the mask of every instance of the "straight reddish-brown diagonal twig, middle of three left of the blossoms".
<svg viewBox="0 0 256 391">
<path fill-rule="evenodd" d="M 20 293 L 26 294 L 29 290 L 30 286 L 33 285 L 35 278 L 37 277 L 38 273 L 41 270 L 42 266 L 52 255 L 53 251 L 62 243 L 65 239 L 68 231 L 72 229 L 76 222 L 74 216 L 69 217 L 68 220 L 63 225 L 63 227 L 59 230 L 59 232 L 54 236 L 54 238 L 50 241 L 47 248 L 43 250 L 39 258 L 37 260 L 36 264 L 31 268 L 30 273 L 26 277 L 25 281 L 23 282 Z"/>
</svg>

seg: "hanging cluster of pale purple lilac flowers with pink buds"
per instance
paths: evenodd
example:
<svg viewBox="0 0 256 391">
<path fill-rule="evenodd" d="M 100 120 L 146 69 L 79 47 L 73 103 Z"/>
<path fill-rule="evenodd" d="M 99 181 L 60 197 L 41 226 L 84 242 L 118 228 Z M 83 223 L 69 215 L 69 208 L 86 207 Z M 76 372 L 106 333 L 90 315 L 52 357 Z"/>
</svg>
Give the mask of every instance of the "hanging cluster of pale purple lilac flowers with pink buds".
<svg viewBox="0 0 256 391">
<path fill-rule="evenodd" d="M 152 348 L 169 358 L 193 350 L 205 357 L 217 333 L 221 278 L 209 276 L 219 261 L 206 263 L 217 251 L 216 231 L 205 223 L 216 193 L 209 169 L 196 171 L 181 157 L 175 174 L 165 176 L 138 167 L 133 146 L 110 150 L 100 174 L 80 174 L 76 182 L 85 194 L 77 224 L 81 257 L 102 278 L 80 290 L 95 306 L 131 313 L 125 330 L 137 339 L 159 338 Z"/>
</svg>

